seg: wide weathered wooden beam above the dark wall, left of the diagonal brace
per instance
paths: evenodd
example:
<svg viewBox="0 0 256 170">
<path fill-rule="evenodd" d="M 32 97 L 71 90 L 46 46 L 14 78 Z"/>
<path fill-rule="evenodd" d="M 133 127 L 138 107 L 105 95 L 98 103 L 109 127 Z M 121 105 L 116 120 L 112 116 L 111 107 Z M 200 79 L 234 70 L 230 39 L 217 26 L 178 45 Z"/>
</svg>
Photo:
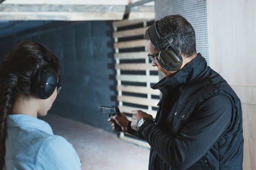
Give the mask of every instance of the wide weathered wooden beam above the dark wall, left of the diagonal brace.
<svg viewBox="0 0 256 170">
<path fill-rule="evenodd" d="M 125 6 L 0 5 L 0 20 L 122 20 Z"/>
</svg>

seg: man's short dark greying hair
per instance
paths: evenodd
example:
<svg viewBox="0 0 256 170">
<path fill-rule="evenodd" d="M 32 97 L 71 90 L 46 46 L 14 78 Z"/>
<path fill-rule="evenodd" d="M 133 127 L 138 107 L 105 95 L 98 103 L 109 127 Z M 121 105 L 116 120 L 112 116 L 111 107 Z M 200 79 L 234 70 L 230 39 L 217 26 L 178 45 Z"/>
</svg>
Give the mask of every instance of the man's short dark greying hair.
<svg viewBox="0 0 256 170">
<path fill-rule="evenodd" d="M 186 57 L 191 57 L 196 53 L 195 45 L 195 31 L 192 25 L 181 15 L 168 15 L 157 23 L 158 32 L 164 38 L 174 37 L 173 47 L 175 50 L 185 55 Z M 149 40 L 148 30 L 145 31 L 144 39 Z M 172 42 L 172 40 L 170 40 Z M 155 47 L 157 51 L 166 48 L 169 42 L 166 41 L 163 45 Z"/>
</svg>

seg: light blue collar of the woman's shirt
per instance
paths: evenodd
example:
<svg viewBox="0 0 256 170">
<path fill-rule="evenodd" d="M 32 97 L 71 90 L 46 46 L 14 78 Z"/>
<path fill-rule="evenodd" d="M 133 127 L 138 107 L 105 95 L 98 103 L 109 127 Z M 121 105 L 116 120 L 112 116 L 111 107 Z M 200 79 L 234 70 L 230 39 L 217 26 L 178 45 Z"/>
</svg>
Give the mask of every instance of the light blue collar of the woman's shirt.
<svg viewBox="0 0 256 170">
<path fill-rule="evenodd" d="M 32 127 L 53 135 L 52 128 L 47 122 L 33 116 L 25 114 L 8 115 L 6 123 L 7 127 Z"/>
</svg>

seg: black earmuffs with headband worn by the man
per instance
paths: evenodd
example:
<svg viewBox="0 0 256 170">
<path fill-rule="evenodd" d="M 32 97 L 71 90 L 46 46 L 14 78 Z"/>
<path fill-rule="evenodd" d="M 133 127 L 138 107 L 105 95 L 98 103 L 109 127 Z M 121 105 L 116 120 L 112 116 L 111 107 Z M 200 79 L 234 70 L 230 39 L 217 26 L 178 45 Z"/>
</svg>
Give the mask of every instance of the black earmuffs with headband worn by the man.
<svg viewBox="0 0 256 170">
<path fill-rule="evenodd" d="M 183 59 L 172 46 L 175 38 L 168 37 L 163 39 L 163 37 L 161 37 L 158 32 L 157 22 L 158 21 L 156 21 L 152 26 L 148 28 L 149 40 L 156 47 L 162 45 L 166 41 L 170 43 L 169 46 L 159 51 L 159 63 L 166 71 L 178 71 L 182 66 Z M 169 41 L 171 38 L 172 42 Z"/>
</svg>

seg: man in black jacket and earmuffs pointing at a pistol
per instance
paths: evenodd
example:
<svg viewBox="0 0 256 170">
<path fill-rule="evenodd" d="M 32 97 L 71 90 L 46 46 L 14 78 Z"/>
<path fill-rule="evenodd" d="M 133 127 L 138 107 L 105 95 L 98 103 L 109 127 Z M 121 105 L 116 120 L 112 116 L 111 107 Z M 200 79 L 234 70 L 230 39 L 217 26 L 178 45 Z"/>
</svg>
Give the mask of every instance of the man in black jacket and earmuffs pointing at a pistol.
<svg viewBox="0 0 256 170">
<path fill-rule="evenodd" d="M 191 24 L 166 16 L 144 37 L 152 65 L 165 76 L 152 87 L 163 94 L 157 116 L 131 111 L 130 122 L 122 113 L 108 120 L 113 129 L 116 122 L 150 144 L 149 170 L 242 170 L 240 99 L 197 54 Z"/>
</svg>

